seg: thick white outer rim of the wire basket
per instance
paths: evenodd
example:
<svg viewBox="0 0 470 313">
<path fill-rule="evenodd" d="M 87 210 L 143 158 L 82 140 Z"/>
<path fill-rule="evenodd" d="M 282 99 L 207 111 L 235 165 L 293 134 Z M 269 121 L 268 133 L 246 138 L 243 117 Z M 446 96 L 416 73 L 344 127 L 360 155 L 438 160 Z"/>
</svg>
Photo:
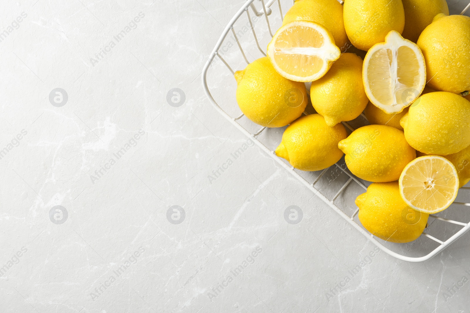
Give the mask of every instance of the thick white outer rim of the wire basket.
<svg viewBox="0 0 470 313">
<path fill-rule="evenodd" d="M 232 125 L 235 126 L 235 128 L 240 130 L 246 137 L 249 137 L 249 138 L 251 138 L 251 133 L 248 130 L 244 129 L 243 126 L 240 125 L 238 122 L 234 121 L 234 119 L 230 115 L 228 115 L 221 107 L 219 107 L 217 102 L 212 97 L 211 92 L 209 90 L 209 86 L 207 84 L 207 73 L 208 73 L 209 67 L 211 66 L 211 63 L 214 61 L 214 57 L 217 54 L 217 51 L 219 50 L 220 46 L 222 45 L 223 40 L 227 37 L 227 33 L 230 31 L 230 27 L 235 23 L 235 21 L 240 17 L 240 15 L 243 14 L 243 11 L 251 5 L 251 3 L 253 1 L 254 0 L 247 0 L 245 2 L 245 4 L 243 5 L 243 7 L 240 8 L 237 11 L 237 13 L 235 14 L 234 17 L 232 17 L 232 19 L 230 20 L 230 22 L 228 23 L 228 25 L 226 26 L 226 28 L 222 32 L 222 35 L 220 36 L 219 40 L 217 41 L 217 43 L 216 43 L 214 49 L 212 50 L 212 53 L 210 54 L 208 60 L 206 61 L 205 65 L 204 65 L 204 68 L 203 68 L 202 75 L 201 75 L 201 80 L 202 80 L 204 92 L 206 93 L 209 101 L 211 102 L 211 104 L 213 105 L 215 110 L 218 111 L 220 115 L 224 116 L 227 119 L 227 121 L 232 123 Z M 263 150 L 265 153 L 268 153 L 268 154 L 272 155 L 272 151 L 270 151 L 266 147 L 266 145 L 261 143 L 258 139 L 254 138 L 254 143 L 256 145 L 258 145 L 258 147 L 261 150 Z M 357 231 L 359 231 L 371 243 L 375 244 L 380 250 L 382 250 L 383 252 L 389 254 L 390 256 L 392 256 L 396 259 L 403 260 L 403 261 L 408 261 L 408 262 L 423 262 L 423 261 L 426 261 L 426 260 L 430 260 L 432 257 L 436 256 L 439 252 L 446 249 L 446 247 L 449 244 L 452 244 L 455 240 L 457 240 L 459 237 L 461 237 L 463 234 L 465 234 L 467 231 L 470 230 L 470 223 L 469 223 L 465 227 L 462 227 L 462 229 L 457 231 L 453 236 L 448 238 L 446 240 L 446 242 L 444 242 L 444 244 L 439 245 L 437 248 L 435 248 L 434 250 L 432 250 L 431 252 L 429 252 L 428 254 L 426 254 L 424 256 L 421 256 L 421 257 L 408 257 L 408 256 L 405 256 L 405 255 L 401 255 L 397 252 L 394 252 L 394 251 L 388 249 L 383 244 L 381 244 L 379 241 L 377 241 L 374 238 L 374 236 L 369 234 L 357 222 L 351 220 L 349 218 L 349 216 L 347 216 L 339 207 L 337 207 L 333 202 L 331 202 L 328 198 L 326 198 L 320 191 L 318 191 L 316 188 L 314 188 L 311 183 L 307 182 L 302 176 L 300 176 L 298 173 L 293 171 L 292 168 L 290 168 L 280 158 L 273 157 L 273 159 L 276 160 L 276 162 L 279 164 L 279 166 L 281 166 L 285 170 L 289 171 L 292 176 L 297 178 L 299 182 L 303 183 L 306 188 L 308 188 L 310 191 L 312 191 L 313 194 L 316 195 L 318 198 L 320 198 L 320 200 L 322 200 L 326 205 L 328 205 L 337 214 L 339 214 L 346 221 L 348 221 L 352 225 L 352 227 L 354 227 Z"/>
</svg>

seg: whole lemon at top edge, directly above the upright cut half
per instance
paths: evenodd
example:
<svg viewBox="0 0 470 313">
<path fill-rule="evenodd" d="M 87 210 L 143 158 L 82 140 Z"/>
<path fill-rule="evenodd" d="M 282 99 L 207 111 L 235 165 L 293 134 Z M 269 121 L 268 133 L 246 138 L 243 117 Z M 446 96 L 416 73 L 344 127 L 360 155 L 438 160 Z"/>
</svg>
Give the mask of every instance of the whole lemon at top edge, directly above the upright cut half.
<svg viewBox="0 0 470 313">
<path fill-rule="evenodd" d="M 343 15 L 349 40 L 364 51 L 384 42 L 390 31 L 401 34 L 405 26 L 401 0 L 345 0 Z"/>
</svg>

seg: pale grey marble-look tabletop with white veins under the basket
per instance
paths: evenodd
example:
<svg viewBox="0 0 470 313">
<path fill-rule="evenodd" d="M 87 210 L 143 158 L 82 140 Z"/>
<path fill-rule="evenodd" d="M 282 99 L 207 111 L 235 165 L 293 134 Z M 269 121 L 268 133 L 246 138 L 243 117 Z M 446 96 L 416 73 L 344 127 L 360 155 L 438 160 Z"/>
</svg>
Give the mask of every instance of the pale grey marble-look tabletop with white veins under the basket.
<svg viewBox="0 0 470 313">
<path fill-rule="evenodd" d="M 212 107 L 244 1 L 5 2 L 1 312 L 470 311 L 469 233 L 379 252 Z"/>
</svg>

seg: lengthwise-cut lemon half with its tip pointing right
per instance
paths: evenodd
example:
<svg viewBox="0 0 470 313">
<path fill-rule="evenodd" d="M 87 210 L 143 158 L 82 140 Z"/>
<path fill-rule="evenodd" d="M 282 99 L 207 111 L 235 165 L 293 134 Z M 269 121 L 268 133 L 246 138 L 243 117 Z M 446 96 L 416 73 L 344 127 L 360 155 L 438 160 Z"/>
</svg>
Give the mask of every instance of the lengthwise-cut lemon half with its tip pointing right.
<svg viewBox="0 0 470 313">
<path fill-rule="evenodd" d="M 267 46 L 267 56 L 274 69 L 296 82 L 321 78 L 340 54 L 331 33 L 310 21 L 286 23 Z"/>
</svg>

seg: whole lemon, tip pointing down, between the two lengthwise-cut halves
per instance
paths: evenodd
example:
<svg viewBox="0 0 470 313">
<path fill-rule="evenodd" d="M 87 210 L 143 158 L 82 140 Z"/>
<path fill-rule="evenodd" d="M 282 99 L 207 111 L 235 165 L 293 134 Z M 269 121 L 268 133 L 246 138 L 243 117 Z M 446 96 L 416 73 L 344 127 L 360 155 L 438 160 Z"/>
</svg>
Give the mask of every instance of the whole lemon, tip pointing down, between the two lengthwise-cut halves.
<svg viewBox="0 0 470 313">
<path fill-rule="evenodd" d="M 362 59 L 343 53 L 325 76 L 312 82 L 310 99 L 328 126 L 351 121 L 362 113 L 368 99 L 361 78 Z"/>
</svg>

